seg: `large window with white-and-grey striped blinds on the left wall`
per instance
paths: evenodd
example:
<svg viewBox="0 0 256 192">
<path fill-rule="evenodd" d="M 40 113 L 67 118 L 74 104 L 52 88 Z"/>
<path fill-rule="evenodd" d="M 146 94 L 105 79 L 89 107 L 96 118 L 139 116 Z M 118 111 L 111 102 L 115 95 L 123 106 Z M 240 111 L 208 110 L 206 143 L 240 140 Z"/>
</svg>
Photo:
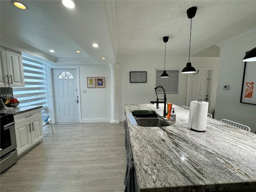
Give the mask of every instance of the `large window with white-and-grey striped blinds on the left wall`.
<svg viewBox="0 0 256 192">
<path fill-rule="evenodd" d="M 19 106 L 42 105 L 46 110 L 46 94 L 44 85 L 44 63 L 22 56 L 25 87 L 12 88 L 13 94 L 20 101 Z"/>
</svg>

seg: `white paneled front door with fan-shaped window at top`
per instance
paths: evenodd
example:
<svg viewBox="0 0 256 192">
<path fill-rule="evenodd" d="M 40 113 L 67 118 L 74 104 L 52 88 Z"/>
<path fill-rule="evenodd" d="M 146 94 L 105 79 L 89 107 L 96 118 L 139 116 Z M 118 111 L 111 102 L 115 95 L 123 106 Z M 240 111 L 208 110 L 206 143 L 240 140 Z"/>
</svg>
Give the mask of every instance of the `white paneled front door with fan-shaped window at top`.
<svg viewBox="0 0 256 192">
<path fill-rule="evenodd" d="M 79 122 L 76 69 L 53 69 L 52 80 L 56 123 Z"/>
</svg>

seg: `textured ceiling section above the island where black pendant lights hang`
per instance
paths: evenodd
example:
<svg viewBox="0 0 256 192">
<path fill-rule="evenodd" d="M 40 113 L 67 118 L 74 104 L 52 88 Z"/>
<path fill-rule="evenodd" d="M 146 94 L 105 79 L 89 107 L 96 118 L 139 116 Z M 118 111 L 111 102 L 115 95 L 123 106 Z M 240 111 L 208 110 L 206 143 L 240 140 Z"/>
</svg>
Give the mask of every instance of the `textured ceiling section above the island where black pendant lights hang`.
<svg viewBox="0 0 256 192">
<path fill-rule="evenodd" d="M 166 54 L 188 55 L 192 6 L 192 55 L 211 47 L 198 56 L 216 56 L 215 44 L 256 26 L 255 1 L 115 1 L 118 56 L 163 55 L 164 36 Z"/>
</svg>

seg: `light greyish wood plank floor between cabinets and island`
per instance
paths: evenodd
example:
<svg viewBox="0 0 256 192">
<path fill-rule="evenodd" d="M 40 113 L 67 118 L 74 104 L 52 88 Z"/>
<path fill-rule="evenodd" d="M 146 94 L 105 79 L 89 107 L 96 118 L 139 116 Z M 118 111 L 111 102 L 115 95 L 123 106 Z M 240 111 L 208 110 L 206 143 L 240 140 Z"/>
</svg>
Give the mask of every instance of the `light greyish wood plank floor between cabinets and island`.
<svg viewBox="0 0 256 192">
<path fill-rule="evenodd" d="M 124 124 L 53 124 L 1 174 L 1 192 L 123 192 Z"/>
</svg>

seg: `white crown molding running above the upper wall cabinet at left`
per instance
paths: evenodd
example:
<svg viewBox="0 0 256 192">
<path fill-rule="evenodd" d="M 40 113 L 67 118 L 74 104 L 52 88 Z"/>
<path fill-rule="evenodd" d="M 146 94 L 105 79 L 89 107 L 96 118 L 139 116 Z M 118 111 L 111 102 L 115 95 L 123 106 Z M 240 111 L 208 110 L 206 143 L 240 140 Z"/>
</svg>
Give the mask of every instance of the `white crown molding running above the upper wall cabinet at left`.
<svg viewBox="0 0 256 192">
<path fill-rule="evenodd" d="M 56 62 L 56 58 L 45 52 L 42 52 L 34 47 L 28 46 L 22 42 L 9 38 L 7 36 L 1 35 L 1 46 L 25 54 L 41 58 L 46 61 Z"/>
</svg>

